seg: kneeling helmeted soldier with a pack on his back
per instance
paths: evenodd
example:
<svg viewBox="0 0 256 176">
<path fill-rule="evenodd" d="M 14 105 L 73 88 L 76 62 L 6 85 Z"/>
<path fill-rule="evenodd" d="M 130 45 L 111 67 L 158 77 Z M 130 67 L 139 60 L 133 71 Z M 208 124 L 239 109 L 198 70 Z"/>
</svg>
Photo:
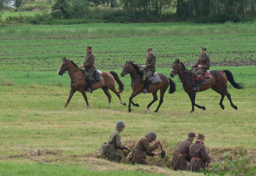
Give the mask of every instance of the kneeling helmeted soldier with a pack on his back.
<svg viewBox="0 0 256 176">
<path fill-rule="evenodd" d="M 108 152 L 108 160 L 109 161 L 114 161 L 114 162 L 120 162 L 121 161 L 121 156 L 120 156 L 120 152 L 118 151 L 118 149 L 120 150 L 130 150 L 129 147 L 124 146 L 124 144 L 122 144 L 121 142 L 121 131 L 124 130 L 124 127 L 126 127 L 126 125 L 124 124 L 123 121 L 118 121 L 116 123 L 115 126 L 115 130 L 111 132 L 109 139 L 108 139 L 108 143 L 109 143 L 109 152 Z"/>
</svg>

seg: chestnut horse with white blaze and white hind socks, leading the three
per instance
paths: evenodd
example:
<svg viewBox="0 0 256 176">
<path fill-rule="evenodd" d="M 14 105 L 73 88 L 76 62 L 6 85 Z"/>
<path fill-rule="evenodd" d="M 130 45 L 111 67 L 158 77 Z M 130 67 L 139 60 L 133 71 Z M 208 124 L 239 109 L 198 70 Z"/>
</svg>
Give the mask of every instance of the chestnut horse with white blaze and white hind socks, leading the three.
<svg viewBox="0 0 256 176">
<path fill-rule="evenodd" d="M 70 83 L 71 89 L 69 92 L 68 101 L 64 107 L 68 106 L 68 103 L 71 100 L 74 93 L 76 91 L 79 91 L 82 93 L 82 95 L 86 101 L 86 104 L 87 104 L 86 108 L 88 108 L 89 103 L 88 103 L 87 96 L 85 93 L 85 86 L 87 86 L 87 81 L 85 81 L 84 73 L 82 72 L 82 70 L 80 68 L 77 67 L 77 65 L 73 61 L 68 60 L 65 57 L 64 57 L 64 59 L 62 58 L 62 60 L 63 60 L 63 62 L 60 65 L 58 74 L 61 76 L 61 75 L 63 75 L 63 73 L 68 71 L 68 74 L 71 79 L 71 83 Z M 103 77 L 103 80 L 92 84 L 93 90 L 99 89 L 100 87 L 102 88 L 102 90 L 104 91 L 104 93 L 107 95 L 107 98 L 108 98 L 108 107 L 110 107 L 110 103 L 111 103 L 111 95 L 110 95 L 108 89 L 112 90 L 118 96 L 121 104 L 126 106 L 126 103 L 124 103 L 120 97 L 120 93 L 123 92 L 123 90 L 124 90 L 124 84 L 118 78 L 117 73 L 115 73 L 114 71 L 110 71 L 110 72 L 103 71 L 102 77 Z M 117 90 L 115 89 L 115 81 L 119 85 L 119 87 L 118 87 L 119 92 L 117 92 Z"/>
</svg>

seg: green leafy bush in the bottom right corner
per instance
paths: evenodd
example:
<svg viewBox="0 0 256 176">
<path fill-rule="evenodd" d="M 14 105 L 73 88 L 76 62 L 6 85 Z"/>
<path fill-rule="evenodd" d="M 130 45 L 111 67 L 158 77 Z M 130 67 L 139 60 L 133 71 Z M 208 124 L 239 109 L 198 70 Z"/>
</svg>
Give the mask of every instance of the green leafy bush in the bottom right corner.
<svg viewBox="0 0 256 176">
<path fill-rule="evenodd" d="M 254 158 L 249 151 L 239 150 L 239 157 L 235 159 L 234 155 L 224 153 L 223 160 L 216 160 L 209 171 L 204 171 L 205 176 L 213 175 L 233 175 L 233 176 L 253 176 L 256 173 Z"/>
</svg>

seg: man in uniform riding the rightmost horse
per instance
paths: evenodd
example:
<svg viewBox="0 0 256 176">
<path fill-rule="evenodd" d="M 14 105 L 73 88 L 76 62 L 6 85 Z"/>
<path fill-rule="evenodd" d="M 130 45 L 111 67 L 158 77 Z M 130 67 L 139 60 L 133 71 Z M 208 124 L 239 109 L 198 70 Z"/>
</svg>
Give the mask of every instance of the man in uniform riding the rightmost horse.
<svg viewBox="0 0 256 176">
<path fill-rule="evenodd" d="M 201 48 L 201 54 L 199 55 L 199 59 L 197 60 L 196 65 L 191 65 L 192 73 L 195 76 L 195 88 L 192 90 L 199 91 L 199 76 L 205 73 L 206 70 L 209 70 L 211 65 L 210 57 L 206 54 L 206 48 Z"/>
</svg>

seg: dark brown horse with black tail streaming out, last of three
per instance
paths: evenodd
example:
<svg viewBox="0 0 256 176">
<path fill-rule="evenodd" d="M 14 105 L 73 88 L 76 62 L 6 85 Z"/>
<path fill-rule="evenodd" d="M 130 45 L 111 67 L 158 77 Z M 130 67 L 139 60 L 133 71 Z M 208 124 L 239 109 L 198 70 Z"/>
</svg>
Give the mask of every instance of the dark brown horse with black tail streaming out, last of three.
<svg viewBox="0 0 256 176">
<path fill-rule="evenodd" d="M 220 106 L 221 109 L 224 109 L 224 105 L 222 104 L 223 99 L 225 97 L 225 95 L 227 96 L 227 98 L 230 101 L 231 106 L 237 110 L 237 106 L 235 106 L 232 101 L 231 101 L 231 96 L 227 91 L 227 81 L 230 82 L 230 84 L 235 87 L 236 89 L 243 89 L 243 85 L 242 83 L 236 83 L 232 73 L 229 70 L 222 70 L 222 71 L 218 71 L 218 70 L 213 70 L 210 71 L 211 75 L 212 75 L 212 81 L 208 84 L 202 84 L 200 87 L 199 92 L 205 91 L 207 89 L 213 89 L 215 92 L 219 93 L 221 95 L 221 100 L 220 100 Z M 225 73 L 225 74 L 224 74 Z M 185 92 L 188 94 L 190 100 L 191 100 L 191 104 L 192 104 L 192 110 L 190 112 L 194 112 L 194 106 L 205 110 L 205 106 L 199 106 L 195 103 L 195 99 L 196 99 L 196 91 L 191 90 L 194 85 L 193 85 L 193 79 L 190 73 L 190 70 L 187 70 L 185 68 L 185 65 L 182 64 L 181 62 L 179 62 L 179 59 L 175 60 L 173 66 L 172 66 L 172 70 L 170 73 L 170 76 L 173 78 L 175 75 L 179 76 L 180 81 L 183 84 L 183 89 L 185 90 Z"/>
</svg>

